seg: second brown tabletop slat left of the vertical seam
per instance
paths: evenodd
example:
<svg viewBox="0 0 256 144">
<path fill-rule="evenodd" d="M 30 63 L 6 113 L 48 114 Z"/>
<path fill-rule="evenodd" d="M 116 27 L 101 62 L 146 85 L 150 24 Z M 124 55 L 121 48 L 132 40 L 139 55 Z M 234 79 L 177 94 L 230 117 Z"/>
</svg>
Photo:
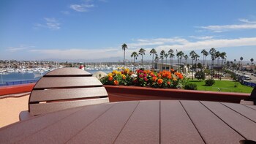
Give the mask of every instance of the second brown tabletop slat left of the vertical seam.
<svg viewBox="0 0 256 144">
<path fill-rule="evenodd" d="M 139 102 L 119 102 L 68 143 L 114 143 Z M 118 117 L 116 117 L 118 115 Z"/>
</svg>

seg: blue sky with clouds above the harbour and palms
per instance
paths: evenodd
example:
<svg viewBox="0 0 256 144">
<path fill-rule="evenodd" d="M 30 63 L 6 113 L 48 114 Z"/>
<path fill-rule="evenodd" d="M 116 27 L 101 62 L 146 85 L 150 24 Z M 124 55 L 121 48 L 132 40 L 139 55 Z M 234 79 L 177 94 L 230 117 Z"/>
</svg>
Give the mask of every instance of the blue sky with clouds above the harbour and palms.
<svg viewBox="0 0 256 144">
<path fill-rule="evenodd" d="M 121 57 L 216 48 L 256 61 L 255 0 L 2 0 L 0 59 Z M 200 54 L 200 58 L 203 58 Z M 209 58 L 209 56 L 208 56 Z M 120 59 L 121 60 L 121 59 Z"/>
</svg>

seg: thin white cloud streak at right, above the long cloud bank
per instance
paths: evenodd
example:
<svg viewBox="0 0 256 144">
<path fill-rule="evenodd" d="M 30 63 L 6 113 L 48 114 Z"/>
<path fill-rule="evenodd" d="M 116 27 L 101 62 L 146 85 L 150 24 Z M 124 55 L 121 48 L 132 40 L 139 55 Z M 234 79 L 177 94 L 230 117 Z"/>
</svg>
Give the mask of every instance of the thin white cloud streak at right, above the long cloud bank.
<svg viewBox="0 0 256 144">
<path fill-rule="evenodd" d="M 206 29 L 214 32 L 232 31 L 239 29 L 256 29 L 256 21 L 249 21 L 247 19 L 239 19 L 243 22 L 241 24 L 232 25 L 211 25 L 211 26 L 200 26 L 201 29 Z"/>
</svg>

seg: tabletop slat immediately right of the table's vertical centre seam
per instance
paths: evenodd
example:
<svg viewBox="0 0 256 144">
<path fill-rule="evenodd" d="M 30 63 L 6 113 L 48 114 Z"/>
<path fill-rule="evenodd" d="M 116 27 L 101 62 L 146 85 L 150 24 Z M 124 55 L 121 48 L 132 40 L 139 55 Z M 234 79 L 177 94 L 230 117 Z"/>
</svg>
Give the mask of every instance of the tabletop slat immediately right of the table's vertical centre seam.
<svg viewBox="0 0 256 144">
<path fill-rule="evenodd" d="M 179 101 L 161 101 L 161 143 L 204 143 Z"/>
</svg>

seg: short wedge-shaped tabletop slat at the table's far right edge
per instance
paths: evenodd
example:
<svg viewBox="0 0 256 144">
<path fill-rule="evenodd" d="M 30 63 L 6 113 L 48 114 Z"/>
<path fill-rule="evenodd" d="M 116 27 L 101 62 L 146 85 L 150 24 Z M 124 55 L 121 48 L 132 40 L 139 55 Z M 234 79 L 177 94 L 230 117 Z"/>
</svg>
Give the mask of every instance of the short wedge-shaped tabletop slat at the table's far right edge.
<svg viewBox="0 0 256 144">
<path fill-rule="evenodd" d="M 237 105 L 234 103 L 222 102 L 223 105 L 230 107 L 230 109 L 235 110 L 237 113 L 244 115 L 246 118 L 249 118 L 256 123 L 256 111 L 252 108 L 246 107 L 245 105 Z"/>
</svg>

